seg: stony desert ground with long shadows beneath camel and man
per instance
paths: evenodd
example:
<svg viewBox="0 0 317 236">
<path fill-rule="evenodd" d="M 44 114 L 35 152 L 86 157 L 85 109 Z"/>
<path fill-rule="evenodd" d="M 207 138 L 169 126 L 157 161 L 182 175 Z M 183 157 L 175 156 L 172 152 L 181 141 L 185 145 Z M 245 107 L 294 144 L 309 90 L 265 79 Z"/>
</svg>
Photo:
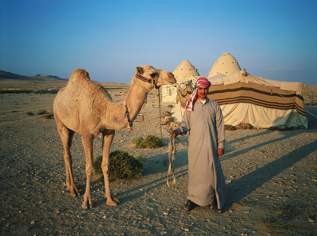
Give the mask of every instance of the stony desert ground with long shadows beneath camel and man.
<svg viewBox="0 0 317 236">
<path fill-rule="evenodd" d="M 62 143 L 55 120 L 25 114 L 36 114 L 39 108 L 52 112 L 55 95 L 64 85 L 43 84 L 37 92 L 27 85 L 28 93 L 0 94 L 1 235 L 317 234 L 317 118 L 313 115 L 307 115 L 309 129 L 226 131 L 225 154 L 220 160 L 228 200 L 222 215 L 206 207 L 190 213 L 182 210 L 187 197 L 187 149 L 182 144 L 177 146 L 176 187 L 169 188 L 168 166 L 163 164 L 168 156 L 166 143 L 161 148 L 138 150 L 144 154 L 142 178 L 111 182 L 120 205 L 107 206 L 104 184 L 94 175 L 91 191 L 96 206 L 83 209 L 86 174 L 80 134 L 74 135 L 71 153 L 81 195 L 72 197 L 66 190 Z M 114 101 L 123 101 L 128 85 L 104 85 Z M 305 103 L 308 89 L 303 92 Z M 133 154 L 131 138 L 148 134 L 159 122 L 159 108 L 151 92 L 145 121 L 139 122 L 139 116 L 133 131 L 116 131 L 110 151 Z M 161 103 L 161 111 L 171 110 L 168 105 Z M 305 108 L 317 115 L 317 106 Z M 152 134 L 160 136 L 162 132 L 167 142 L 168 128 L 157 125 Z M 186 143 L 188 136 L 179 139 Z M 101 140 L 101 135 L 94 140 L 94 157 L 101 154 Z"/>
</svg>

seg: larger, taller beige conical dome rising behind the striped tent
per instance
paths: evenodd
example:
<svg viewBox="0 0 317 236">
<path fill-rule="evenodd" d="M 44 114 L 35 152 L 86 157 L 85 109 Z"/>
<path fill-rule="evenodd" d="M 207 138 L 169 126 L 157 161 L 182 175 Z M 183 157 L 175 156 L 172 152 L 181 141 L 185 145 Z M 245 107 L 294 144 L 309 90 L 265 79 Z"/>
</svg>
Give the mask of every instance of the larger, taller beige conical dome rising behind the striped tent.
<svg viewBox="0 0 317 236">
<path fill-rule="evenodd" d="M 241 68 L 236 58 L 226 52 L 212 66 L 208 78 L 220 73 L 223 75 L 232 75 L 240 70 Z"/>
</svg>

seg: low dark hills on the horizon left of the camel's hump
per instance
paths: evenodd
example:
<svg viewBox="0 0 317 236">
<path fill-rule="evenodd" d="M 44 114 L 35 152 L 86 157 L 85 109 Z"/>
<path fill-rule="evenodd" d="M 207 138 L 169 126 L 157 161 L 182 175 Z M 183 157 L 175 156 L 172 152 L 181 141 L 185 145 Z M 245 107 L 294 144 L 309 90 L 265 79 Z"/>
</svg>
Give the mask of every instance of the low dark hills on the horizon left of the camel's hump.
<svg viewBox="0 0 317 236">
<path fill-rule="evenodd" d="M 68 81 L 68 79 L 63 79 L 53 75 L 37 74 L 34 76 L 25 76 L 25 75 L 13 74 L 11 72 L 7 72 L 4 70 L 0 70 L 0 80 L 30 80 L 30 81 L 47 81 L 47 82 Z"/>
</svg>

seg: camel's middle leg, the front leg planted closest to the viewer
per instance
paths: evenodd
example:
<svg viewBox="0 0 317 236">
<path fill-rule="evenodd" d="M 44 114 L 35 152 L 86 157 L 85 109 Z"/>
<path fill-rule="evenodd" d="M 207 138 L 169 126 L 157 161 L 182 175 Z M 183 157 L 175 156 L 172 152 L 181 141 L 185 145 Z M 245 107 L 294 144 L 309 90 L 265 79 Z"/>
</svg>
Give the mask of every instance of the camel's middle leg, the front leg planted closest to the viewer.
<svg viewBox="0 0 317 236">
<path fill-rule="evenodd" d="M 86 175 L 87 175 L 87 182 L 86 182 L 86 192 L 84 194 L 84 201 L 81 204 L 82 208 L 88 209 L 93 208 L 94 203 L 91 199 L 90 193 L 90 178 L 91 175 L 94 173 L 94 159 L 93 159 L 93 135 L 81 135 L 82 145 L 85 149 L 86 154 Z"/>
</svg>

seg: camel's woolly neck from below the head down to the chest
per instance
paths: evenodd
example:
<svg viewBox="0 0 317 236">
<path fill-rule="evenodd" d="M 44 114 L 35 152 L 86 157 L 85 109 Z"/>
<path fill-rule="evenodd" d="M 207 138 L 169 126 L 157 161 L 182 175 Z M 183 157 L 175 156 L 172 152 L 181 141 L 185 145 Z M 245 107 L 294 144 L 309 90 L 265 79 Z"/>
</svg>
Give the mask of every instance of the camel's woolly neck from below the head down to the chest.
<svg viewBox="0 0 317 236">
<path fill-rule="evenodd" d="M 142 105 L 146 99 L 148 92 L 151 90 L 151 84 L 143 81 L 138 81 L 138 78 L 133 76 L 130 88 L 126 93 L 125 102 L 113 104 L 112 108 L 107 109 L 105 114 L 104 126 L 107 129 L 122 129 L 127 126 L 126 108 L 129 111 L 130 121 L 139 114 Z"/>
</svg>

